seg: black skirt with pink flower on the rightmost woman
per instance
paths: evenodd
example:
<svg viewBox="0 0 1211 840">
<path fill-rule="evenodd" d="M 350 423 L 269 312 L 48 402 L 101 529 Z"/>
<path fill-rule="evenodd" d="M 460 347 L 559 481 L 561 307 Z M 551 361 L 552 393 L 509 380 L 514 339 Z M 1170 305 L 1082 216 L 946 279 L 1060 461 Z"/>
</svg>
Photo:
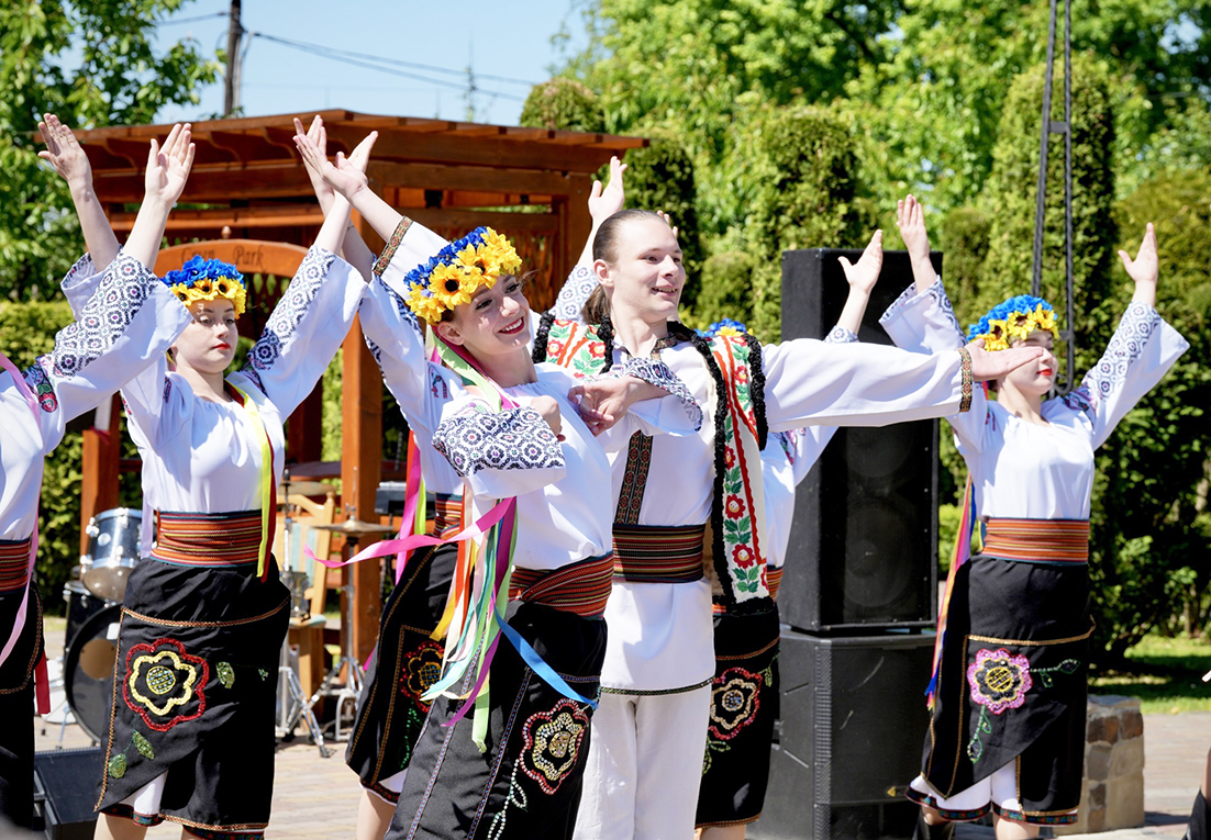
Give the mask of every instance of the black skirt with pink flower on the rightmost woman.
<svg viewBox="0 0 1211 840">
<path fill-rule="evenodd" d="M 976 556 L 959 569 L 925 737 L 929 784 L 952 796 L 1016 760 L 1022 811 L 997 811 L 1028 823 L 1073 822 L 1091 634 L 1084 563 Z"/>
</svg>

